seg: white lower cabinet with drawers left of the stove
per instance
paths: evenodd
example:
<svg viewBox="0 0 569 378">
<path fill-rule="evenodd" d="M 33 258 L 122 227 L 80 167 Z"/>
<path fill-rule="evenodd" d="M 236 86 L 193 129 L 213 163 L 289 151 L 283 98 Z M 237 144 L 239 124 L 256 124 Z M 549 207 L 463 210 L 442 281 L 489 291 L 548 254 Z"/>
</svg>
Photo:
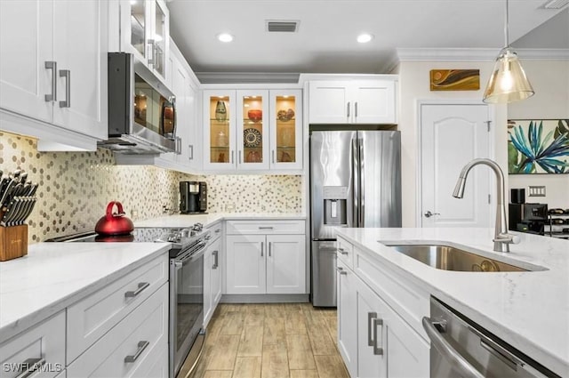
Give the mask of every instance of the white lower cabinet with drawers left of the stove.
<svg viewBox="0 0 569 378">
<path fill-rule="evenodd" d="M 168 299 L 164 253 L 0 342 L 0 376 L 165 378 Z M 22 374 L 35 363 L 36 372 Z"/>
</svg>

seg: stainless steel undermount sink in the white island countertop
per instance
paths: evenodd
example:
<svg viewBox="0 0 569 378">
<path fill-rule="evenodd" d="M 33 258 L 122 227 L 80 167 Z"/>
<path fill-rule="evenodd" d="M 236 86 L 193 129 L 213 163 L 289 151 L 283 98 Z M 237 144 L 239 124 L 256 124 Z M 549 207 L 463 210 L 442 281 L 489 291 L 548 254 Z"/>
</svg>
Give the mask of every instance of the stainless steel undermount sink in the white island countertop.
<svg viewBox="0 0 569 378">
<path fill-rule="evenodd" d="M 436 269 L 474 272 L 546 270 L 538 266 L 521 268 L 476 253 L 470 253 L 451 245 L 382 244 Z"/>
</svg>

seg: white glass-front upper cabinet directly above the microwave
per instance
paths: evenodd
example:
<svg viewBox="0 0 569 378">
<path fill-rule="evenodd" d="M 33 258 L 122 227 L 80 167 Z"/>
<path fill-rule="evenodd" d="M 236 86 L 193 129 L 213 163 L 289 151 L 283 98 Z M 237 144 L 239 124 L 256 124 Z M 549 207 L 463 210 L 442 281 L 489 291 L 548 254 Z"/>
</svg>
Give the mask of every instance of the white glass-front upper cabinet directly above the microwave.
<svg viewBox="0 0 569 378">
<path fill-rule="evenodd" d="M 170 13 L 162 0 L 121 1 L 122 51 L 132 52 L 164 82 L 170 44 Z"/>
</svg>

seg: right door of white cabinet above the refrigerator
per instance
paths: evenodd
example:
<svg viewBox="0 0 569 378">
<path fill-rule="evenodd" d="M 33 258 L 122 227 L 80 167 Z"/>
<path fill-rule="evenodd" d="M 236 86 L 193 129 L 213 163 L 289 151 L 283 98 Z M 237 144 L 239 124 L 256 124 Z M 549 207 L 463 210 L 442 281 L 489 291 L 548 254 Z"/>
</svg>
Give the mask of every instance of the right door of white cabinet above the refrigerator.
<svg viewBox="0 0 569 378">
<path fill-rule="evenodd" d="M 354 124 L 395 123 L 395 82 L 366 80 L 353 84 Z"/>
</svg>

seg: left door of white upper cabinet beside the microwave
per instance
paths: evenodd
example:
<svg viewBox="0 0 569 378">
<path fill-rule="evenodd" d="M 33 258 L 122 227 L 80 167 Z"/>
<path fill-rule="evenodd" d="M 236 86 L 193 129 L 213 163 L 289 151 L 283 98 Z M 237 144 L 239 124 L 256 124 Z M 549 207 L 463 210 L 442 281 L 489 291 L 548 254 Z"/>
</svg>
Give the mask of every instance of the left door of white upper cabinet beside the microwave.
<svg viewBox="0 0 569 378">
<path fill-rule="evenodd" d="M 0 1 L 0 108 L 52 122 L 53 4 Z"/>
</svg>

